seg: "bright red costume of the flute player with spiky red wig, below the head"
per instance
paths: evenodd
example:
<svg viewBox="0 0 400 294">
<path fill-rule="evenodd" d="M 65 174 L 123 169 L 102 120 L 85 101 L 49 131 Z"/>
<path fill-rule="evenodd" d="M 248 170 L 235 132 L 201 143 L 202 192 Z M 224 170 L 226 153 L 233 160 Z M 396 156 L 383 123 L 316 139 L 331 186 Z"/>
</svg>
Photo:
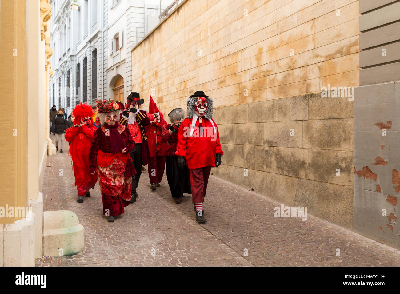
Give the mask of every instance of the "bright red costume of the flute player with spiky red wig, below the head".
<svg viewBox="0 0 400 294">
<path fill-rule="evenodd" d="M 65 130 L 65 140 L 71 143 L 69 153 L 74 168 L 75 186 L 93 188 L 96 184 L 96 176 L 89 173 L 89 150 L 96 130 L 95 126 L 86 124 Z"/>
</svg>

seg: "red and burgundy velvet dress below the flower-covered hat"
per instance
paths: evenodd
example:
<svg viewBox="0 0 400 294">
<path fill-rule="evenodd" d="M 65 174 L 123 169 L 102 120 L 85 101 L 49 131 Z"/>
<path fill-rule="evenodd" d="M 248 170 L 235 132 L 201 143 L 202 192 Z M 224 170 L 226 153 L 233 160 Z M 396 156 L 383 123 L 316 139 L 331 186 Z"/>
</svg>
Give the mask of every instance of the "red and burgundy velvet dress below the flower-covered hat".
<svg viewBox="0 0 400 294">
<path fill-rule="evenodd" d="M 110 135 L 106 134 L 104 126 L 94 134 L 89 153 L 89 171 L 98 177 L 102 194 L 103 214 L 118 216 L 124 213 L 124 207 L 131 199 L 132 176 L 136 170 L 132 165 L 129 151 L 134 148 L 134 142 L 128 128 L 118 124 L 126 152 L 112 152 Z"/>
</svg>

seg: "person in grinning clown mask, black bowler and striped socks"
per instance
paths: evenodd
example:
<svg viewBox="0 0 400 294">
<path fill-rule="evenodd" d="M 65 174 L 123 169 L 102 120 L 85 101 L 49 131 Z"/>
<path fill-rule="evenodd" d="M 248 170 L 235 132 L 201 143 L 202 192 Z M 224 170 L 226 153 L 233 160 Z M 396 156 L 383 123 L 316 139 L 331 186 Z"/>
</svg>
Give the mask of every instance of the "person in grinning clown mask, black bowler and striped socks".
<svg viewBox="0 0 400 294">
<path fill-rule="evenodd" d="M 221 164 L 221 149 L 218 127 L 212 119 L 212 99 L 203 91 L 196 91 L 187 101 L 188 115 L 178 132 L 178 166 L 187 164 L 192 187 L 192 202 L 196 209 L 196 221 L 205 223 L 202 203 L 206 196 L 208 177 L 212 167 Z"/>
</svg>

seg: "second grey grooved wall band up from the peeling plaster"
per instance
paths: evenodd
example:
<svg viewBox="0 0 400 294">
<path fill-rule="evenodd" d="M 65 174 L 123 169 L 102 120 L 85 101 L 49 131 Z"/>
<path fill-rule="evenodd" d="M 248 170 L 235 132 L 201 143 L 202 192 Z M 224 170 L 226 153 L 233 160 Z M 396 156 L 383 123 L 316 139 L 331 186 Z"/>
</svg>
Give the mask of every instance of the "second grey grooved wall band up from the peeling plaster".
<svg viewBox="0 0 400 294">
<path fill-rule="evenodd" d="M 386 56 L 382 55 L 383 49 L 386 49 Z M 386 44 L 360 52 L 360 68 L 395 60 L 400 60 L 400 42 Z"/>
</svg>

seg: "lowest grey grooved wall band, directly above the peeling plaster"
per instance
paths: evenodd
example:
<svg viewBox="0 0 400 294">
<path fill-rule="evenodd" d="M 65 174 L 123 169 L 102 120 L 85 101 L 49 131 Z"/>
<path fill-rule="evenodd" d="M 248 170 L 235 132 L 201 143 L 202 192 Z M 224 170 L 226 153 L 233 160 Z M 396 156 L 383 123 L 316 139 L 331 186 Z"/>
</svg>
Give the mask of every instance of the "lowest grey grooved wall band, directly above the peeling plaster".
<svg viewBox="0 0 400 294">
<path fill-rule="evenodd" d="M 400 62 L 360 70 L 360 86 L 400 80 Z"/>
</svg>

